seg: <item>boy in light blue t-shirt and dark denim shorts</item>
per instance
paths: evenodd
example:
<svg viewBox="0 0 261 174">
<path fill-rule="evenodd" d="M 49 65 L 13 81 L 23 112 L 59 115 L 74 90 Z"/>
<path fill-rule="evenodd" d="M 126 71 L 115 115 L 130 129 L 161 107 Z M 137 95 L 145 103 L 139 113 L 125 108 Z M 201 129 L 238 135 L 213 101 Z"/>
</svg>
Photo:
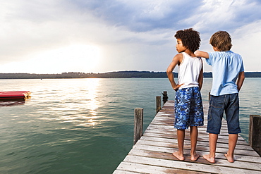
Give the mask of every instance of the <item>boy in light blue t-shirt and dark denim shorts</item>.
<svg viewBox="0 0 261 174">
<path fill-rule="evenodd" d="M 236 148 L 238 133 L 241 132 L 238 118 L 238 92 L 245 79 L 243 60 L 241 55 L 230 51 L 231 36 L 226 31 L 215 32 L 210 38 L 210 44 L 215 52 L 195 51 L 196 56 L 206 58 L 207 64 L 212 66 L 213 71 L 207 118 L 210 154 L 204 155 L 203 158 L 210 163 L 215 163 L 217 139 L 225 111 L 229 132 L 229 150 L 224 155 L 229 162 L 233 163 L 233 152 Z"/>
</svg>

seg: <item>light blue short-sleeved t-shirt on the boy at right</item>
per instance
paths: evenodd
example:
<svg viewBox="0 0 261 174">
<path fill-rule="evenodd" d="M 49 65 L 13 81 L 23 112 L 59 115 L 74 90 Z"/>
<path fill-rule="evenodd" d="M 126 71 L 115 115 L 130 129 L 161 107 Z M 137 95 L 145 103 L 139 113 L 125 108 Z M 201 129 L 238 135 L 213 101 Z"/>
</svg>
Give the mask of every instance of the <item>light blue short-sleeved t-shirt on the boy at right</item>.
<svg viewBox="0 0 261 174">
<path fill-rule="evenodd" d="M 209 52 L 207 64 L 212 66 L 212 89 L 210 94 L 220 96 L 238 93 L 236 80 L 238 74 L 244 71 L 241 55 L 233 51 Z"/>
</svg>

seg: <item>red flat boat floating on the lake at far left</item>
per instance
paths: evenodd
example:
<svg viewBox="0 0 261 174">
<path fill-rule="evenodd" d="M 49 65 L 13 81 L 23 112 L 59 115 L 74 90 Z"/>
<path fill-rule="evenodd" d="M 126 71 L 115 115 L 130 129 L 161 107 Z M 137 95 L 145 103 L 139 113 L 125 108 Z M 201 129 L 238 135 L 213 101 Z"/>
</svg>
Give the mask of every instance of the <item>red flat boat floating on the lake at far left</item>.
<svg viewBox="0 0 261 174">
<path fill-rule="evenodd" d="M 0 100 L 2 99 L 27 99 L 30 97 L 30 91 L 18 92 L 0 92 Z"/>
</svg>

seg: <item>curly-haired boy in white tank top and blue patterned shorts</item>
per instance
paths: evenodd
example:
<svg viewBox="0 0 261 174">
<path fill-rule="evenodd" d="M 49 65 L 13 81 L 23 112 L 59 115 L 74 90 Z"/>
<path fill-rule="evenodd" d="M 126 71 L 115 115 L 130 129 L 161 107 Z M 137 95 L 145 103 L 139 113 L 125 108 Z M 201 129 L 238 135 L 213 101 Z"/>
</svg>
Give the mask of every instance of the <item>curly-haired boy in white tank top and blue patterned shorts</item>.
<svg viewBox="0 0 261 174">
<path fill-rule="evenodd" d="M 177 129 L 178 151 L 172 153 L 178 160 L 183 161 L 183 144 L 185 130 L 190 127 L 190 160 L 196 161 L 200 155 L 196 153 L 198 126 L 204 123 L 204 113 L 200 89 L 203 82 L 202 60 L 195 56 L 194 51 L 200 47 L 200 34 L 192 28 L 178 30 L 176 50 L 172 62 L 166 70 L 169 82 L 176 91 L 175 122 Z M 173 70 L 178 65 L 178 83 L 174 81 Z"/>
</svg>

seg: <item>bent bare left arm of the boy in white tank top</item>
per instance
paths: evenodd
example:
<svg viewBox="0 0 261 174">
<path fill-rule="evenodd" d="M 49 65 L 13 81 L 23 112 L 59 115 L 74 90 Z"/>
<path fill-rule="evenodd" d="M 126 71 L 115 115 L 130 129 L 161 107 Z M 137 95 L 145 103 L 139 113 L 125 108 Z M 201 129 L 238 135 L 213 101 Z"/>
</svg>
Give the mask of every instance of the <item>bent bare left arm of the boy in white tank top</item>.
<svg viewBox="0 0 261 174">
<path fill-rule="evenodd" d="M 183 59 L 182 54 L 177 54 L 174 56 L 172 62 L 170 63 L 169 67 L 166 69 L 166 75 L 168 75 L 169 82 L 171 82 L 171 87 L 176 91 L 181 85 L 176 84 L 174 81 L 173 70 L 176 65 L 179 65 Z M 183 84 L 182 84 L 183 85 Z"/>
</svg>

